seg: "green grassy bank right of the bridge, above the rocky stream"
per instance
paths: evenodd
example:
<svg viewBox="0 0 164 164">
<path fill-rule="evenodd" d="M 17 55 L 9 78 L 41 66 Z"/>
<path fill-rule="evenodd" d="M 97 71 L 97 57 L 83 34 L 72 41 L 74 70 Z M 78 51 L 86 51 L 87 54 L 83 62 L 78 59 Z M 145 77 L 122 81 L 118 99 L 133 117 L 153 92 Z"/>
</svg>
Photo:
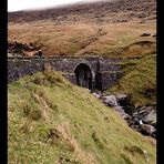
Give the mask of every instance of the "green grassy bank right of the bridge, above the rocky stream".
<svg viewBox="0 0 164 164">
<path fill-rule="evenodd" d="M 156 54 L 122 63 L 125 75 L 109 91 L 126 93 L 137 105 L 156 104 Z"/>
</svg>

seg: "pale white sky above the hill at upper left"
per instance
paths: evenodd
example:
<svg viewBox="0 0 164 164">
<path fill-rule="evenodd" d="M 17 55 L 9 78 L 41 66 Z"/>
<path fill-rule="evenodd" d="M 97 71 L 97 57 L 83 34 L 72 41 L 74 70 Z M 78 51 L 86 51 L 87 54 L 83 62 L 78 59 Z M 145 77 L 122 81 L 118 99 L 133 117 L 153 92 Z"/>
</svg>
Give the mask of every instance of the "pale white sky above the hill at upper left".
<svg viewBox="0 0 164 164">
<path fill-rule="evenodd" d="M 29 9 L 43 9 L 74 2 L 95 0 L 8 0 L 8 11 L 20 11 Z"/>
</svg>

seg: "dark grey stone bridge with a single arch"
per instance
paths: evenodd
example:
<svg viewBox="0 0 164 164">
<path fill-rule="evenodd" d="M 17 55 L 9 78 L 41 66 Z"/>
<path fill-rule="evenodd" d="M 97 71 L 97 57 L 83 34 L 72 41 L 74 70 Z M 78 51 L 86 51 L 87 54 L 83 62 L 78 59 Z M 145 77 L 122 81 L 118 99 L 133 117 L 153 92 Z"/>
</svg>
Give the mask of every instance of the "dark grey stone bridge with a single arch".
<svg viewBox="0 0 164 164">
<path fill-rule="evenodd" d="M 48 69 L 61 71 L 72 83 L 106 90 L 122 76 L 121 59 L 114 58 L 8 58 L 8 82 Z"/>
</svg>

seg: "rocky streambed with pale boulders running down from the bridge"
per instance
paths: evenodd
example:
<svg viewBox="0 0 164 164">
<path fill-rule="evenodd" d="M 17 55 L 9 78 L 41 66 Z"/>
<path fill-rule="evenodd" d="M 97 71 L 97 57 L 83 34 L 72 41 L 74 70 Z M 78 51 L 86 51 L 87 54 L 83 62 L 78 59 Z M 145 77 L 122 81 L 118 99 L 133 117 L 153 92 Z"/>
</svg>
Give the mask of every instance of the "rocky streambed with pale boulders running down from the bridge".
<svg viewBox="0 0 164 164">
<path fill-rule="evenodd" d="M 127 122 L 129 126 L 156 139 L 156 106 L 135 106 L 126 94 L 91 93 L 101 100 L 106 106 L 113 107 Z"/>
</svg>

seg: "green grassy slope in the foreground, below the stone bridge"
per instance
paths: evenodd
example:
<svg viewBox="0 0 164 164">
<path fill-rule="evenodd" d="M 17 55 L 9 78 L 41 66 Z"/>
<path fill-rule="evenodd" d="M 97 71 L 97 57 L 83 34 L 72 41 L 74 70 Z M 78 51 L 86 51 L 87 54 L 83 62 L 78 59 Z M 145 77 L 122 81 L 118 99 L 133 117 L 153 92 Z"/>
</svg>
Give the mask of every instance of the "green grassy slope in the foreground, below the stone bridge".
<svg viewBox="0 0 164 164">
<path fill-rule="evenodd" d="M 9 163 L 156 163 L 155 140 L 57 72 L 20 79 L 8 96 Z"/>
</svg>

